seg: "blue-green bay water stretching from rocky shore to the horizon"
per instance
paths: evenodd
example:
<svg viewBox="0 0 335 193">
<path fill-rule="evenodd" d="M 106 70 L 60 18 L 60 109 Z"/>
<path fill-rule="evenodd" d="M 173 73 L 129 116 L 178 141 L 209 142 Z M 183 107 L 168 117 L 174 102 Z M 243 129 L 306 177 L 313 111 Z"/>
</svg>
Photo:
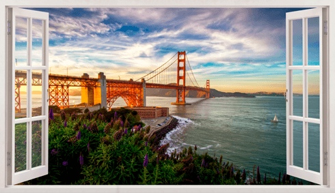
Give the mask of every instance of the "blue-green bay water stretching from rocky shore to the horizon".
<svg viewBox="0 0 335 193">
<path fill-rule="evenodd" d="M 319 96 L 309 96 L 308 116 L 319 118 Z M 37 100 L 40 101 L 40 100 Z M 147 106 L 166 106 L 179 120 L 161 144 L 170 143 L 169 152 L 197 145 L 197 153 L 208 152 L 238 169 L 260 167 L 262 176 L 286 173 L 286 102 L 284 97 L 256 98 L 186 98 L 191 105 L 176 106 L 176 98 L 147 97 Z M 302 115 L 302 97 L 293 98 L 294 115 Z M 70 105 L 81 103 L 80 96 L 70 96 Z M 33 100 L 34 106 L 34 100 Z M 126 106 L 122 98 L 113 107 Z M 279 122 L 271 120 L 277 115 Z M 293 121 L 293 164 L 301 166 L 302 122 Z M 319 125 L 308 124 L 309 169 L 319 172 Z M 306 181 L 304 181 L 306 184 Z"/>
</svg>

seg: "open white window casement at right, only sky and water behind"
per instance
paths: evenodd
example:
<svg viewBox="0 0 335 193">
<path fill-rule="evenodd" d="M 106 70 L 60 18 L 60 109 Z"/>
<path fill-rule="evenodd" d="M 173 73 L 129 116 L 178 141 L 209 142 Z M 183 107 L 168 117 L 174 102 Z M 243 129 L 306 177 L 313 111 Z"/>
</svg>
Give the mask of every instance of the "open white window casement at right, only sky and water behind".
<svg viewBox="0 0 335 193">
<path fill-rule="evenodd" d="M 327 185 L 327 10 L 286 13 L 286 172 Z"/>
</svg>

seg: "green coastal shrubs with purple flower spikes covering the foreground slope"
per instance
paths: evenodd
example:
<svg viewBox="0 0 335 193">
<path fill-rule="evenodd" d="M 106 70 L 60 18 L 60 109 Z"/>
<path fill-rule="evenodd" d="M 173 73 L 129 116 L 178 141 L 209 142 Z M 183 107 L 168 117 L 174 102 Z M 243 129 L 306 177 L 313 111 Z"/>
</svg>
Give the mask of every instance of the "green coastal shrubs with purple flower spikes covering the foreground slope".
<svg viewBox="0 0 335 193">
<path fill-rule="evenodd" d="M 279 178 L 241 171 L 220 158 L 197 153 L 197 147 L 168 154 L 169 144 L 148 138 L 134 110 L 105 108 L 81 115 L 49 113 L 49 175 L 26 185 L 279 185 L 302 184 L 289 175 Z M 41 164 L 40 122 L 33 125 L 33 166 Z M 24 170 L 25 125 L 16 127 L 16 170 Z M 34 161 L 36 160 L 36 162 Z M 21 168 L 18 168 L 21 166 Z"/>
</svg>

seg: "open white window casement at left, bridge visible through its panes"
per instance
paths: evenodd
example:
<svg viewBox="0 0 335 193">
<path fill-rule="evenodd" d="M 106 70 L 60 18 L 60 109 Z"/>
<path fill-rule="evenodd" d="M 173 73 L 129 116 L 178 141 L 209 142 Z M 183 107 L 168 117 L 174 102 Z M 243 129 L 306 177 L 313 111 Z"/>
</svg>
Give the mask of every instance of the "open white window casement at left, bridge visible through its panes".
<svg viewBox="0 0 335 193">
<path fill-rule="evenodd" d="M 8 9 L 7 184 L 48 174 L 49 13 Z"/>
</svg>

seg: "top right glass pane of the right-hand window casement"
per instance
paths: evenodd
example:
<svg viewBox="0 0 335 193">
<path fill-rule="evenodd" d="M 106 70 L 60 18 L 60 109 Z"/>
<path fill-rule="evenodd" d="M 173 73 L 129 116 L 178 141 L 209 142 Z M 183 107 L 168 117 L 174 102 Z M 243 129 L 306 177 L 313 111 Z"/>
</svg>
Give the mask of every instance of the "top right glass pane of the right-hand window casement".
<svg viewBox="0 0 335 193">
<path fill-rule="evenodd" d="M 307 19 L 308 65 L 319 65 L 319 17 Z"/>
</svg>

